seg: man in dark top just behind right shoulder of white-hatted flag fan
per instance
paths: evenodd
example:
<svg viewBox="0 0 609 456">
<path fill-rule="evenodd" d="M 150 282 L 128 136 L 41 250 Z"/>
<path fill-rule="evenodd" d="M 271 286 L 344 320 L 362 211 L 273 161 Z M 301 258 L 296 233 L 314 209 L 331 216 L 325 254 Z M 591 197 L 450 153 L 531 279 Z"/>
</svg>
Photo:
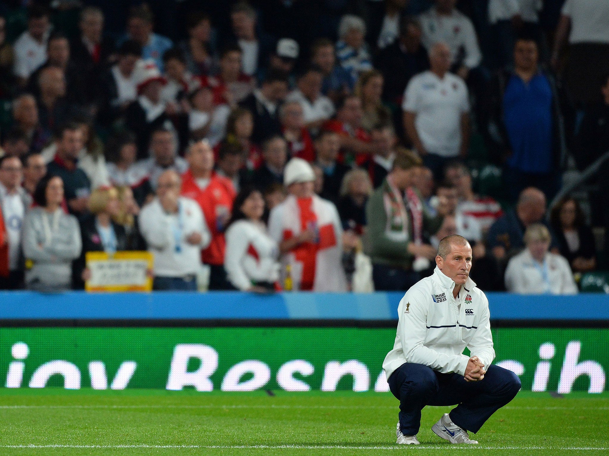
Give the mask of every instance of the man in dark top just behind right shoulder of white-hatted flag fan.
<svg viewBox="0 0 609 456">
<path fill-rule="evenodd" d="M 351 167 L 338 162 L 340 151 L 340 137 L 332 130 L 322 130 L 315 138 L 315 151 L 317 152 L 317 164 L 323 171 L 323 188 L 320 196 L 338 202 L 340 186 L 345 174 Z"/>
</svg>

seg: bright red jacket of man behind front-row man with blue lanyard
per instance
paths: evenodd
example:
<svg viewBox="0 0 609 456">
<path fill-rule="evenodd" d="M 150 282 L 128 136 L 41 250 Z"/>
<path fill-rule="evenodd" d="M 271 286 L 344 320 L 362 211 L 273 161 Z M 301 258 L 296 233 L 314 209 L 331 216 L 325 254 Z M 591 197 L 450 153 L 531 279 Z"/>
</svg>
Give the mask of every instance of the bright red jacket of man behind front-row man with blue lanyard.
<svg viewBox="0 0 609 456">
<path fill-rule="evenodd" d="M 205 250 L 201 251 L 201 260 L 203 263 L 217 266 L 224 264 L 226 249 L 224 223 L 228 221 L 233 209 L 233 200 L 236 196 L 233 183 L 227 178 L 212 173 L 209 185 L 205 190 L 201 190 L 197 181 L 192 177 L 191 171 L 188 170 L 182 174 L 182 195 L 199 203 L 209 233 L 211 233 L 211 243 Z M 224 217 L 225 220 L 223 221 L 219 216 Z"/>
</svg>

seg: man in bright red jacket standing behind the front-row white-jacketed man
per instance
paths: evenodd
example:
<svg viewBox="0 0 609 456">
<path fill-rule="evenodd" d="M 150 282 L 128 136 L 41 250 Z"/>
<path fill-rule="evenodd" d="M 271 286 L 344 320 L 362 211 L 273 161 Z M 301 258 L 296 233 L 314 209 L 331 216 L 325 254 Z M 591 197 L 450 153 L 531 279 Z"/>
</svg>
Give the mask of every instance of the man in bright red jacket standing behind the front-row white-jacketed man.
<svg viewBox="0 0 609 456">
<path fill-rule="evenodd" d="M 203 263 L 209 264 L 209 289 L 231 289 L 224 271 L 224 230 L 235 197 L 233 184 L 214 173 L 214 151 L 205 141 L 192 144 L 186 159 L 189 168 L 182 176 L 182 195 L 199 203 L 211 233 L 211 243 L 201 252 Z"/>
</svg>

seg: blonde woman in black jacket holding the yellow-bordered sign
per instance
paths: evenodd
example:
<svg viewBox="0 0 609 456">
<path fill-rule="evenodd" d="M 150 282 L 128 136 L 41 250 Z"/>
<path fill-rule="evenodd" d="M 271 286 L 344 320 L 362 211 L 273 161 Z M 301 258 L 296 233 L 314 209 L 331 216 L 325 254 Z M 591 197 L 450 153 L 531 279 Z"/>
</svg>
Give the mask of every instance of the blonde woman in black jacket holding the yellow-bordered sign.
<svg viewBox="0 0 609 456">
<path fill-rule="evenodd" d="M 116 252 L 127 250 L 125 228 L 114 222 L 120 210 L 118 191 L 114 187 L 100 187 L 91 192 L 88 215 L 80 224 L 82 252 L 74 261 L 74 288 L 85 288 L 91 279 L 91 270 L 86 267 L 86 252 L 105 252 L 112 258 Z"/>
</svg>

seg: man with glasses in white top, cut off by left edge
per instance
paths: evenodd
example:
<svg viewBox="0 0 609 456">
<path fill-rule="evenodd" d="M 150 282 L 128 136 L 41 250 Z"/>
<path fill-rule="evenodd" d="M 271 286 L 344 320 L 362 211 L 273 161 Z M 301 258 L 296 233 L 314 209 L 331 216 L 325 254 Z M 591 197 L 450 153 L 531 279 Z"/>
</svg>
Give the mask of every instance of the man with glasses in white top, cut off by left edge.
<svg viewBox="0 0 609 456">
<path fill-rule="evenodd" d="M 23 288 L 21 226 L 31 201 L 22 178 L 18 157 L 0 157 L 0 289 Z"/>
</svg>

